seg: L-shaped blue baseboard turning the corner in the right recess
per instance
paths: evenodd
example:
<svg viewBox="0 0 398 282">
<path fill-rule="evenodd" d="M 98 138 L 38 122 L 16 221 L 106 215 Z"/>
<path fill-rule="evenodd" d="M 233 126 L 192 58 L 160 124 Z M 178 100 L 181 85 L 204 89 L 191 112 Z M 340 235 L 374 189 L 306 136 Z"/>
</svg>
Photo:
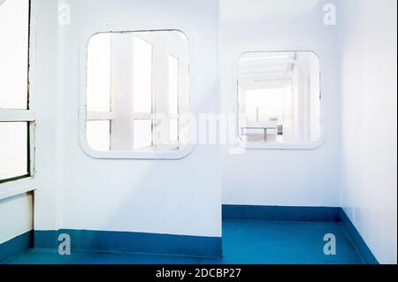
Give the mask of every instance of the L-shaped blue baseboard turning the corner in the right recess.
<svg viewBox="0 0 398 282">
<path fill-rule="evenodd" d="M 341 223 L 366 264 L 379 264 L 341 208 L 223 205 L 223 219 Z"/>
</svg>

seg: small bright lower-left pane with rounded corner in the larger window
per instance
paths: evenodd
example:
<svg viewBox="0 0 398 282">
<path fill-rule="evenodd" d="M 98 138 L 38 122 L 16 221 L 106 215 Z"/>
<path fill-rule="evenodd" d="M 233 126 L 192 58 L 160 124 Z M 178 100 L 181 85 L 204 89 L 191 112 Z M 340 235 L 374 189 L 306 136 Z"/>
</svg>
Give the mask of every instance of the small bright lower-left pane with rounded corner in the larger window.
<svg viewBox="0 0 398 282">
<path fill-rule="evenodd" d="M 109 120 L 88 121 L 87 141 L 92 149 L 109 151 L 111 149 L 111 122 Z"/>
</svg>

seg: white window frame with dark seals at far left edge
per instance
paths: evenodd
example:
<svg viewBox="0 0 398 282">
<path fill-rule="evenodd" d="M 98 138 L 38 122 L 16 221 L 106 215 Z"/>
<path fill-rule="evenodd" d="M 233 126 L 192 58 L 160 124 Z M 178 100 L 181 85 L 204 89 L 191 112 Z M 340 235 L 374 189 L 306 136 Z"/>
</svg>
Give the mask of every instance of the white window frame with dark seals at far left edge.
<svg viewBox="0 0 398 282">
<path fill-rule="evenodd" d="M 10 1 L 10 0 L 7 0 Z M 35 115 L 34 115 L 34 77 L 33 77 L 33 60 L 34 46 L 34 20 L 32 19 L 32 1 L 27 0 L 27 109 L 2 109 L 0 108 L 0 123 L 23 122 L 27 123 L 27 173 L 11 177 L 8 179 L 0 179 L 0 200 L 5 197 L 15 194 L 33 191 L 31 185 L 34 179 L 34 129 L 35 129 Z M 0 6 L 1 8 L 1 6 Z M 23 187 L 19 187 L 19 185 Z"/>
</svg>

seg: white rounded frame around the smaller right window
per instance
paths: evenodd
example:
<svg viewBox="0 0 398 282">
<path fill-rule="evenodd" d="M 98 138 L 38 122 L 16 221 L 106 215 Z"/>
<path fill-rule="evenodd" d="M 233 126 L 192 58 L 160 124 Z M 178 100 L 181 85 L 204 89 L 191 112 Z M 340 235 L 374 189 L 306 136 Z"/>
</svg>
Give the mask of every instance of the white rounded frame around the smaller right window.
<svg viewBox="0 0 398 282">
<path fill-rule="evenodd" d="M 318 141 L 315 142 L 308 142 L 308 143 L 303 143 L 303 144 L 298 144 L 298 143 L 256 143 L 256 142 L 250 142 L 250 141 L 245 141 L 241 137 L 241 129 L 240 129 L 240 122 L 239 119 L 241 117 L 241 112 L 240 112 L 240 86 L 239 86 L 239 81 L 240 81 L 240 62 L 241 62 L 241 57 L 247 55 L 247 54 L 253 54 L 253 53 L 283 53 L 283 52 L 310 52 L 314 54 L 316 57 L 318 57 L 318 62 L 319 62 L 319 107 L 320 107 L 320 135 Z M 237 123 L 236 123 L 236 134 L 237 134 L 237 142 L 241 148 L 244 149 L 281 149 L 281 150 L 313 150 L 313 149 L 318 149 L 321 147 L 326 140 L 326 126 L 325 126 L 325 95 L 322 91 L 322 66 L 321 66 L 321 59 L 318 56 L 318 54 L 312 50 L 267 50 L 267 51 L 261 51 L 261 50 L 256 50 L 256 51 L 246 51 L 241 54 L 236 60 L 238 62 L 238 72 L 237 72 L 237 85 L 236 85 L 236 114 L 237 114 Z"/>
</svg>

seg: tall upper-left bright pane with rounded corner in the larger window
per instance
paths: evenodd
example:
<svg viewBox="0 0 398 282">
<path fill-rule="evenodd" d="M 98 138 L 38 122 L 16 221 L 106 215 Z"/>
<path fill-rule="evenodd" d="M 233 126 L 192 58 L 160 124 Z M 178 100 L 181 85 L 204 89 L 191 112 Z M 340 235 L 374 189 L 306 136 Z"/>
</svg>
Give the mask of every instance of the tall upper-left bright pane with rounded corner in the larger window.
<svg viewBox="0 0 398 282">
<path fill-rule="evenodd" d="M 88 44 L 87 111 L 111 109 L 111 35 L 96 34 Z"/>
</svg>

